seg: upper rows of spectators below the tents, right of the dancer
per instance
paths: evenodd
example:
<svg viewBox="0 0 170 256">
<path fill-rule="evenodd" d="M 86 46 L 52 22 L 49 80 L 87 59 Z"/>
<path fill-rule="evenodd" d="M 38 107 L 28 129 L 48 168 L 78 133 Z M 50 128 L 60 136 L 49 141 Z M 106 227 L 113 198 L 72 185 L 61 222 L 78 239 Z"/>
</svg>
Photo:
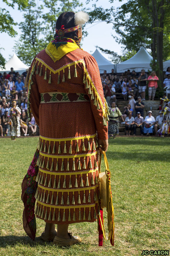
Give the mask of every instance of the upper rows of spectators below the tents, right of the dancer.
<svg viewBox="0 0 170 256">
<path fill-rule="evenodd" d="M 145 101 L 147 89 L 148 100 L 154 100 L 158 80 L 159 78 L 156 76 L 155 71 L 152 71 L 149 75 L 144 69 L 139 73 L 135 72 L 135 70 L 130 72 L 128 69 L 121 74 L 116 74 L 112 69 L 111 73 L 106 73 L 106 70 L 104 70 L 104 73 L 101 74 L 104 95 L 109 107 L 113 101 L 116 102 L 117 96 L 120 97 L 121 95 L 124 100 L 128 100 L 129 96 L 137 100 L 137 97 L 140 96 L 142 101 Z M 170 98 L 170 67 L 167 68 L 165 73 L 163 86 L 167 97 Z"/>
</svg>

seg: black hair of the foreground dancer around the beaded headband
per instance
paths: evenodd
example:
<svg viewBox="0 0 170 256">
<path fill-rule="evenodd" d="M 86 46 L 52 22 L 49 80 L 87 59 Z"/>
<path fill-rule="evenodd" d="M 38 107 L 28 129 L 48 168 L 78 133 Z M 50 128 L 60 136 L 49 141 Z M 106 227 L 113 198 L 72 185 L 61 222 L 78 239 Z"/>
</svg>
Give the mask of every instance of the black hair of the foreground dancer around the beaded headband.
<svg viewBox="0 0 170 256">
<path fill-rule="evenodd" d="M 74 27 L 75 26 L 74 15 L 75 15 L 74 12 L 62 13 L 56 21 L 56 25 L 55 25 L 56 29 L 60 29 L 62 25 L 64 25 L 65 29 Z M 58 36 L 57 33 L 55 33 L 54 38 L 57 36 Z M 66 33 L 64 36 L 74 39 L 74 37 L 77 37 L 77 30 Z"/>
</svg>

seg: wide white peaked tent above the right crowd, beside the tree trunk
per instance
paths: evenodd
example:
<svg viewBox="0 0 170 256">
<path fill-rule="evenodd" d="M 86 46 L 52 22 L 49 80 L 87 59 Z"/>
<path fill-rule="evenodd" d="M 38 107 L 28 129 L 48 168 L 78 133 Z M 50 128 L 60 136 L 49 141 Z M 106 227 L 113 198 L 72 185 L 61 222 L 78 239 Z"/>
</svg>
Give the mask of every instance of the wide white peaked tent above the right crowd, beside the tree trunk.
<svg viewBox="0 0 170 256">
<path fill-rule="evenodd" d="M 150 67 L 150 62 L 152 59 L 153 57 L 142 46 L 132 58 L 116 65 L 117 73 L 124 72 L 128 69 L 130 69 L 131 72 L 132 70 L 140 72 L 141 69 L 145 69 L 145 71 L 148 71 L 148 69 L 152 70 Z"/>
</svg>

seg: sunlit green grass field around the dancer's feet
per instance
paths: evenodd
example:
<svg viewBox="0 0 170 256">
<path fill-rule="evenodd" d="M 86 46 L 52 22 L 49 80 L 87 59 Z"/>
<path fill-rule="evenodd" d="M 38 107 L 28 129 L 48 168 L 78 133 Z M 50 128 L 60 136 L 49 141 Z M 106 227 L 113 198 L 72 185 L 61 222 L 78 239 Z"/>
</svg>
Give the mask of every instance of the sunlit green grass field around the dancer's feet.
<svg viewBox="0 0 170 256">
<path fill-rule="evenodd" d="M 40 239 L 42 220 L 36 220 L 35 241 L 22 227 L 21 182 L 38 138 L 0 139 L 0 256 L 136 256 L 142 250 L 169 249 L 170 138 L 118 137 L 109 142 L 115 245 L 99 247 L 97 223 L 79 223 L 69 230 L 82 237 L 82 244 L 60 248 Z"/>
</svg>

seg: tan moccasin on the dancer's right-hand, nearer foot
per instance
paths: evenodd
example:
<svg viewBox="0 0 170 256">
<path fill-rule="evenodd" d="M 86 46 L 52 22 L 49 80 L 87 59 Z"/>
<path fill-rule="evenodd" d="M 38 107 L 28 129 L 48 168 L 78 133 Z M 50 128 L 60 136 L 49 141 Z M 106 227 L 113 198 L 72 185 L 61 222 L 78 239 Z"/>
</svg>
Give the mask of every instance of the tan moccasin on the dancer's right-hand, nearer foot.
<svg viewBox="0 0 170 256">
<path fill-rule="evenodd" d="M 55 236 L 52 244 L 56 244 L 58 246 L 70 246 L 72 244 L 77 244 L 82 242 L 82 239 L 79 236 L 72 236 L 71 233 L 68 233 L 68 234 L 70 236 L 70 239 L 63 239 Z"/>
</svg>

